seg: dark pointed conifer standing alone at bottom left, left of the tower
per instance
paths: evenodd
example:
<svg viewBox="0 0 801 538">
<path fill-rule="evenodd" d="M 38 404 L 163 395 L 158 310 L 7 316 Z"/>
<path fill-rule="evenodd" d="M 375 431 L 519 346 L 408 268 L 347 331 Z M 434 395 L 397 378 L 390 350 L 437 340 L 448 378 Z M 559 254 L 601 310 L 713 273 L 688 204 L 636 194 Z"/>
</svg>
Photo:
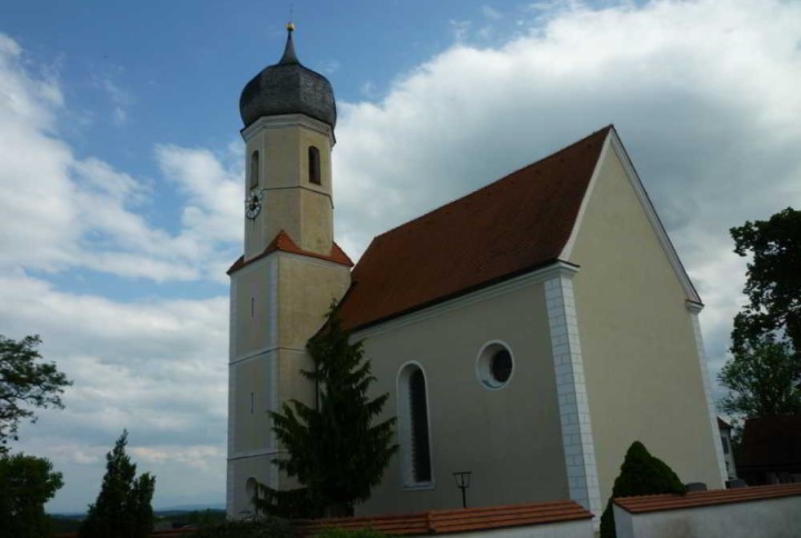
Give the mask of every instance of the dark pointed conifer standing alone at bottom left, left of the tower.
<svg viewBox="0 0 801 538">
<path fill-rule="evenodd" d="M 136 464 L 126 454 L 128 431 L 106 455 L 106 476 L 100 494 L 81 525 L 81 538 L 138 538 L 152 531 L 150 501 L 156 478 L 145 472 L 136 476 Z"/>
</svg>

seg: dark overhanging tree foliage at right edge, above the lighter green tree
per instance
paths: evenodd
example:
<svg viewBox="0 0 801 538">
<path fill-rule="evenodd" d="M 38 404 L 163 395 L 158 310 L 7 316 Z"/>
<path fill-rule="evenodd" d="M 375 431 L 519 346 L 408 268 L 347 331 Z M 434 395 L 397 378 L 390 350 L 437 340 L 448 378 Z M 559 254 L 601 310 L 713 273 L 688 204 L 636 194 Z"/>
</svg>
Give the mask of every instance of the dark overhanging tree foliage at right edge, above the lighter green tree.
<svg viewBox="0 0 801 538">
<path fill-rule="evenodd" d="M 801 359 L 801 211 L 787 208 L 730 231 L 734 252 L 752 257 L 743 290 L 749 303 L 734 318 L 734 347 L 778 335 Z"/>
</svg>

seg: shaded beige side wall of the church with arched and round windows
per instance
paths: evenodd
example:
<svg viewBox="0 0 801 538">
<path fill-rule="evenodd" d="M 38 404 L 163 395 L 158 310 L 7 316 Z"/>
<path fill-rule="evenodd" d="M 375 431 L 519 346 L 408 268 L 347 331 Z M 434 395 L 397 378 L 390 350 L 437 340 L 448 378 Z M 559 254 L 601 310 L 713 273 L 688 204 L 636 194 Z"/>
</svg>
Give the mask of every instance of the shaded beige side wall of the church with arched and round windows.
<svg viewBox="0 0 801 538">
<path fill-rule="evenodd" d="M 355 335 L 366 337 L 365 355 L 378 379 L 373 395 L 392 395 L 385 417 L 398 416 L 395 395 L 402 366 L 416 361 L 423 367 L 434 478 L 432 488 L 404 489 L 396 456 L 382 485 L 370 500 L 357 507 L 357 514 L 459 507 L 461 492 L 452 474 L 463 470 L 473 471 L 468 506 L 566 499 L 542 283 L 462 308 L 435 307 L 432 311 L 441 313 Z M 513 377 L 500 390 L 487 389 L 476 376 L 477 356 L 491 340 L 505 342 L 514 356 Z"/>
</svg>

